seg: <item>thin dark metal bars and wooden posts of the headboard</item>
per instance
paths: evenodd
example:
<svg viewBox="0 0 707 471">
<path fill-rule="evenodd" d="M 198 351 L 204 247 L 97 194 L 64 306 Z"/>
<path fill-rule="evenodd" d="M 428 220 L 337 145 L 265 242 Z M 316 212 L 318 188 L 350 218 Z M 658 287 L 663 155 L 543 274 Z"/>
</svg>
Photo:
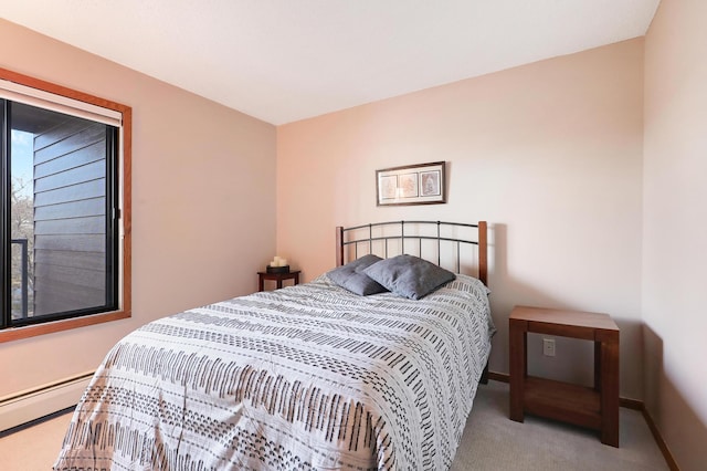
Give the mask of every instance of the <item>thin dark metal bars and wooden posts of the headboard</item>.
<svg viewBox="0 0 707 471">
<path fill-rule="evenodd" d="M 436 237 L 433 236 L 420 236 L 414 233 L 405 233 L 405 226 L 409 227 L 429 227 L 436 224 Z M 442 237 L 442 226 L 457 227 L 457 228 L 475 228 L 477 229 L 477 239 L 467 238 L 454 238 Z M 400 232 L 392 236 L 376 236 L 373 237 L 373 228 L 377 227 L 395 227 L 399 226 Z M 361 229 L 368 229 L 368 237 L 359 237 L 358 239 L 346 240 L 347 233 Z M 372 222 L 369 224 L 354 226 L 350 228 L 344 228 L 341 226 L 336 228 L 336 265 L 340 266 L 345 263 L 344 253 L 347 245 L 354 245 L 354 257 L 358 258 L 358 245 L 361 243 L 368 244 L 368 253 L 373 251 L 373 242 L 382 241 L 384 247 L 384 255 L 388 258 L 388 243 L 391 240 L 398 240 L 401 243 L 401 252 L 405 253 L 405 241 L 411 239 L 418 240 L 419 253 L 422 253 L 422 241 L 432 240 L 437 242 L 437 265 L 441 263 L 442 242 L 450 242 L 456 247 L 456 271 L 461 269 L 461 245 L 462 243 L 477 245 L 478 252 L 478 279 L 487 284 L 488 276 L 488 237 L 487 237 L 487 223 L 486 221 L 479 221 L 478 223 L 461 223 L 461 222 L 444 222 L 444 221 L 389 221 L 389 222 Z"/>
</svg>

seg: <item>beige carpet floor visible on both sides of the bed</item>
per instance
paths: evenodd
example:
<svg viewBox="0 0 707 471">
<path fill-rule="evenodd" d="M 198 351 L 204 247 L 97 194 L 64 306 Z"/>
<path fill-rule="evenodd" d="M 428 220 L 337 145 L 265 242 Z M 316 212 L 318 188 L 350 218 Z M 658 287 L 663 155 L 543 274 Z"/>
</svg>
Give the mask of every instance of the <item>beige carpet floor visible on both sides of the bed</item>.
<svg viewBox="0 0 707 471">
<path fill-rule="evenodd" d="M 0 438 L 0 470 L 50 470 L 71 414 Z M 635 410 L 621 409 L 621 448 L 591 431 L 527 417 L 508 420 L 508 385 L 479 387 L 452 465 L 463 470 L 667 470 L 651 431 Z"/>
</svg>

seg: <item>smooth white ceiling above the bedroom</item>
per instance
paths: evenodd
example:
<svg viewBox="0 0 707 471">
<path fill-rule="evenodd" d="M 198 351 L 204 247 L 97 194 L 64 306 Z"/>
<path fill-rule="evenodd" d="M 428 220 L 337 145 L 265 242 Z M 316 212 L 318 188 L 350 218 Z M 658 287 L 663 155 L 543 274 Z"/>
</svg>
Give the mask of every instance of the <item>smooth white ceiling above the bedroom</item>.
<svg viewBox="0 0 707 471">
<path fill-rule="evenodd" d="M 0 15 L 279 125 L 644 35 L 659 0 L 0 0 Z"/>
</svg>

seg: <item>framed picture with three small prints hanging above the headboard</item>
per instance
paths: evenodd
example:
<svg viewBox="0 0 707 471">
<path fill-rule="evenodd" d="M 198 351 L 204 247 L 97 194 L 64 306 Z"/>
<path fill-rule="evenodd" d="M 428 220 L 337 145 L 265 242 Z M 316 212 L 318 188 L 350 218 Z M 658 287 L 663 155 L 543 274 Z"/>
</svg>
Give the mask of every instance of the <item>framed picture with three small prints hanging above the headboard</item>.
<svg viewBox="0 0 707 471">
<path fill-rule="evenodd" d="M 446 202 L 444 161 L 376 170 L 378 206 Z"/>
</svg>

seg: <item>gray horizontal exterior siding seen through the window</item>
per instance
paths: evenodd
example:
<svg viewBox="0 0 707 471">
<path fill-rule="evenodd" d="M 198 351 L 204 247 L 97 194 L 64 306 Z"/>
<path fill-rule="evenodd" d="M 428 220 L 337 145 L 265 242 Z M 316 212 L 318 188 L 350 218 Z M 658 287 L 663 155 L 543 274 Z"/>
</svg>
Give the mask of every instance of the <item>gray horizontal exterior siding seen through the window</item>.
<svg viewBox="0 0 707 471">
<path fill-rule="evenodd" d="M 106 276 L 110 132 L 67 117 L 34 137 L 35 316 L 114 304 Z"/>
</svg>

